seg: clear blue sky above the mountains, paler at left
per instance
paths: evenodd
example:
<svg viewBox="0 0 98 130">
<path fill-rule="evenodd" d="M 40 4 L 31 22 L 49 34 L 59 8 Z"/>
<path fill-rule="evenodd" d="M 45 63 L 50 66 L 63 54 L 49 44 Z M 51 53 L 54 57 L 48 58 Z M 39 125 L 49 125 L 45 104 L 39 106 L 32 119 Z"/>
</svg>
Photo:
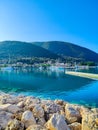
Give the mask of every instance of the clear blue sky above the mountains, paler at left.
<svg viewBox="0 0 98 130">
<path fill-rule="evenodd" d="M 98 0 L 0 0 L 0 41 L 65 41 L 98 53 Z"/>
</svg>

